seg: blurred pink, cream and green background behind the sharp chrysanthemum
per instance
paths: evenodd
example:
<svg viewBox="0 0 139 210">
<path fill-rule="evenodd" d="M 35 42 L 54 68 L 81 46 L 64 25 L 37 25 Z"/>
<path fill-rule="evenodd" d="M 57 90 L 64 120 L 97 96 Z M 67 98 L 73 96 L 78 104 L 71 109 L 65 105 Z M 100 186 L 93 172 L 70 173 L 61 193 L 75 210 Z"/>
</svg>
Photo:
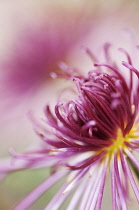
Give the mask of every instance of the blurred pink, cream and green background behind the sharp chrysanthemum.
<svg viewBox="0 0 139 210">
<path fill-rule="evenodd" d="M 103 58 L 102 45 L 110 42 L 115 60 L 117 49 L 124 47 L 138 67 L 133 50 L 138 45 L 138 11 L 138 0 L 0 0 L 1 159 L 9 156 L 11 147 L 23 152 L 39 144 L 28 113 L 40 120 L 45 105 L 54 106 L 61 91 L 70 86 L 55 78 L 59 64 L 84 73 L 93 68 L 83 47 Z M 42 169 L 8 176 L 0 185 L 0 210 L 11 209 L 48 174 Z M 57 187 L 30 209 L 44 209 Z M 103 209 L 111 207 L 104 203 Z"/>
</svg>

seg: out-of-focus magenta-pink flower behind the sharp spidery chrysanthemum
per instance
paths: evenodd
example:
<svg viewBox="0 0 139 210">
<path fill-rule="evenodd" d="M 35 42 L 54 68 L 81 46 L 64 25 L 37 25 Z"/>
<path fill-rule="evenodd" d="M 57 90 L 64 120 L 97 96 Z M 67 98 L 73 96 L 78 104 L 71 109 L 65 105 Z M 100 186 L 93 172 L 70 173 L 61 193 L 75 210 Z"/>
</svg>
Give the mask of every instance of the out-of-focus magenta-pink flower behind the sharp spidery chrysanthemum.
<svg viewBox="0 0 139 210">
<path fill-rule="evenodd" d="M 30 100 L 45 83 L 49 85 L 50 72 L 58 71 L 58 62 L 65 60 L 87 33 L 87 22 L 79 18 L 74 10 L 67 13 L 55 10 L 34 25 L 19 25 L 12 52 L 0 63 L 4 107 L 5 104 L 14 107 L 22 97 L 29 96 Z"/>
</svg>

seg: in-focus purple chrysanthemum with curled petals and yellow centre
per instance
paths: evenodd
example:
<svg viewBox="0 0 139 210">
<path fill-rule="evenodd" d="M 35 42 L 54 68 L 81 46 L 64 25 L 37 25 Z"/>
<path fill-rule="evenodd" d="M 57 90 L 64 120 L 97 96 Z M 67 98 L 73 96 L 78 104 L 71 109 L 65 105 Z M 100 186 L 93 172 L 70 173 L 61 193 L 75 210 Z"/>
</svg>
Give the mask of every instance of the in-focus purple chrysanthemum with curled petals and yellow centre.
<svg viewBox="0 0 139 210">
<path fill-rule="evenodd" d="M 45 166 L 52 169 L 50 177 L 30 192 L 16 210 L 27 209 L 65 176 L 67 182 L 45 210 L 59 209 L 72 191 L 68 210 L 101 209 L 107 174 L 111 176 L 113 210 L 127 209 L 130 185 L 139 202 L 139 189 L 128 161 L 139 168 L 139 161 L 133 154 L 139 151 L 139 72 L 124 49 L 120 51 L 126 61 L 120 67 L 110 58 L 109 44 L 104 51 L 106 61 L 101 63 L 86 49 L 96 67 L 87 76 L 74 69 L 73 75 L 70 68 L 65 68 L 64 77 L 73 79 L 77 93 L 74 99 L 58 102 L 55 114 L 46 106 L 44 123 L 51 131 L 45 125 L 36 124 L 45 146 L 24 154 L 12 150 L 15 162 L 1 167 L 2 175 L 24 168 Z M 127 79 L 126 72 L 129 72 Z"/>
</svg>

